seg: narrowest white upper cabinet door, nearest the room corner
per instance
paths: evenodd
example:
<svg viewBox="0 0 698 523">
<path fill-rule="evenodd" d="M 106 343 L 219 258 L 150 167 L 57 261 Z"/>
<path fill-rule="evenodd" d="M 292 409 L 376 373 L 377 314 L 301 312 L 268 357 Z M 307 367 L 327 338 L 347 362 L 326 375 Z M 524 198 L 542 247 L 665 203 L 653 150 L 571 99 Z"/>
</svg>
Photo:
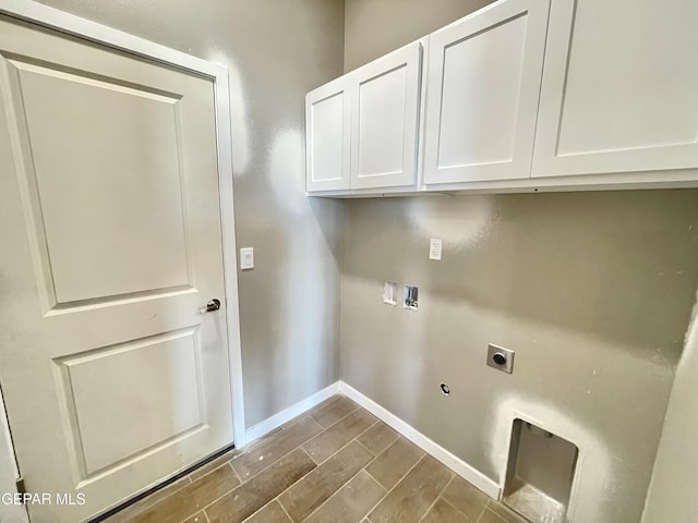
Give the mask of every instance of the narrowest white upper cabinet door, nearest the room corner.
<svg viewBox="0 0 698 523">
<path fill-rule="evenodd" d="M 305 96 L 305 190 L 341 191 L 349 175 L 350 99 L 342 76 Z"/>
</svg>

